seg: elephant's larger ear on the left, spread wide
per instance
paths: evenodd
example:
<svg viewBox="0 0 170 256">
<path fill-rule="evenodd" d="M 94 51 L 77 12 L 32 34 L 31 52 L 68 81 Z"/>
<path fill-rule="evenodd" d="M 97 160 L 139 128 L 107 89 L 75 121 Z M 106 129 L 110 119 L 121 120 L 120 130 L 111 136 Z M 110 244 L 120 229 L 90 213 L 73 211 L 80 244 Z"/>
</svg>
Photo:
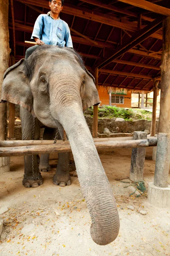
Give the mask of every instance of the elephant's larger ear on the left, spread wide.
<svg viewBox="0 0 170 256">
<path fill-rule="evenodd" d="M 9 67 L 3 76 L 2 101 L 8 101 L 26 108 L 34 115 L 33 96 L 29 79 L 24 74 L 25 59 Z"/>
</svg>

